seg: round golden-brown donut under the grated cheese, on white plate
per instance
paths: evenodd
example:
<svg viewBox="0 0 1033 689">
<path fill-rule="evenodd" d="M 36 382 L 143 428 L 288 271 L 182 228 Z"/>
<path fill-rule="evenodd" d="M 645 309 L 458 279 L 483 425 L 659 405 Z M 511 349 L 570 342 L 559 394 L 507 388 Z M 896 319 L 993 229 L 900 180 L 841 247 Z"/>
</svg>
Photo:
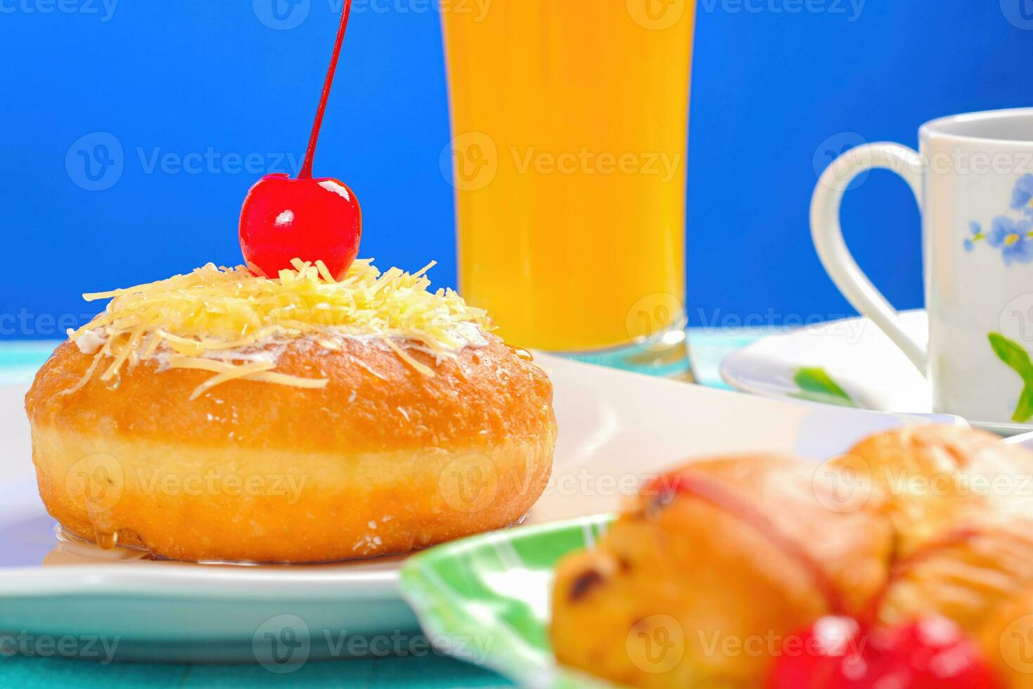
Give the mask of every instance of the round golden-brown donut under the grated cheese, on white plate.
<svg viewBox="0 0 1033 689">
<path fill-rule="evenodd" d="M 233 279 L 273 288 L 263 278 Z M 302 294 L 308 306 L 313 294 L 328 299 L 328 287 L 310 287 L 278 294 Z M 179 299 L 160 289 L 161 300 Z M 138 308 L 159 300 L 151 292 Z M 462 310 L 452 296 L 426 294 L 406 308 Z M 154 316 L 156 328 L 186 332 L 168 316 L 178 304 Z M 221 349 L 191 351 L 189 341 L 210 336 L 162 331 L 168 337 L 153 355 L 114 369 L 125 349 L 90 352 L 94 340 L 111 343 L 118 319 L 138 327 L 143 317 L 116 307 L 57 349 L 26 398 L 40 496 L 77 537 L 189 561 L 367 558 L 504 527 L 544 490 L 556 440 L 552 384 L 529 354 L 470 322 L 463 332 L 478 342 L 444 353 L 390 334 L 363 337 L 354 323 L 343 333 L 295 322 L 228 364 Z M 274 359 L 274 371 L 259 367 L 274 377 L 218 373 Z M 105 379 L 104 367 L 115 375 Z"/>
</svg>

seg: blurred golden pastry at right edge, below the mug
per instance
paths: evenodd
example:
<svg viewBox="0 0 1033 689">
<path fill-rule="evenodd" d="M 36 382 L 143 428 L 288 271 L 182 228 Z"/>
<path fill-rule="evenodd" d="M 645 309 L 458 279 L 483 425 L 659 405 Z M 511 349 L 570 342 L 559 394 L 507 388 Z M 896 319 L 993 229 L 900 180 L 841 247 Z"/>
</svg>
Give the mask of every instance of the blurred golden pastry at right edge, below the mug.
<svg viewBox="0 0 1033 689">
<path fill-rule="evenodd" d="M 897 534 L 883 622 L 932 610 L 975 633 L 1033 586 L 1033 452 L 930 426 L 873 436 L 829 465 L 858 459 Z"/>
</svg>

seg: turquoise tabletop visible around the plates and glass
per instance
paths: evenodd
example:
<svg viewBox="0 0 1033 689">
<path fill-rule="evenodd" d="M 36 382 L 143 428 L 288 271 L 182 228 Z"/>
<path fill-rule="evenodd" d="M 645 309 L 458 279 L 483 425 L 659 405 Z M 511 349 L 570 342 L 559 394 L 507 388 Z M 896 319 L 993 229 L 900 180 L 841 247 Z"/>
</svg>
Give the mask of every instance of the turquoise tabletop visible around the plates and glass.
<svg viewBox="0 0 1033 689">
<path fill-rule="evenodd" d="M 732 332 L 690 331 L 690 343 L 699 382 L 723 386 L 718 366 L 728 352 L 742 347 L 755 335 Z M 54 349 L 54 343 L 0 343 L 0 385 L 25 384 Z M 114 663 L 89 660 L 30 658 L 10 655 L 0 648 L 0 687 L 23 689 L 52 687 L 508 687 L 495 672 L 452 660 L 427 655 L 342 659 L 311 662 L 289 675 L 274 675 L 260 665 L 166 665 Z"/>
</svg>

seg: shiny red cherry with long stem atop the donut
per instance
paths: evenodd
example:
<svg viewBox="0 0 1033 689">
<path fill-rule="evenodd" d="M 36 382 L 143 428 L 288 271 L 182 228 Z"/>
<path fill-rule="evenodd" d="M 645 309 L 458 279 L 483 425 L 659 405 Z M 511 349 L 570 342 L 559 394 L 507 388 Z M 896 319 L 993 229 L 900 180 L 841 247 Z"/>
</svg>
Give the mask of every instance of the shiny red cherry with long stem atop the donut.
<svg viewBox="0 0 1033 689">
<path fill-rule="evenodd" d="M 312 178 L 319 128 L 350 12 L 351 0 L 345 0 L 319 108 L 298 179 L 267 175 L 251 187 L 244 199 L 241 251 L 248 268 L 258 275 L 275 278 L 281 270 L 291 268 L 292 259 L 301 258 L 313 262 L 322 260 L 331 275 L 339 278 L 358 255 L 363 216 L 354 192 L 338 180 Z"/>
</svg>

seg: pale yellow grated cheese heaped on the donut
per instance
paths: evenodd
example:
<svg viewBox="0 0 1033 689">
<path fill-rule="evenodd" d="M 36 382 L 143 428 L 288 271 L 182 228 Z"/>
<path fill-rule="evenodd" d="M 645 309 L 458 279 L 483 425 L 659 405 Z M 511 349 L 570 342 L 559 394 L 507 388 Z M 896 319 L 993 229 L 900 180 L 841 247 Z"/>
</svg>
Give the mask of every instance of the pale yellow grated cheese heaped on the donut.
<svg viewBox="0 0 1033 689">
<path fill-rule="evenodd" d="M 126 289 L 84 294 L 109 299 L 107 308 L 68 337 L 94 361 L 73 393 L 99 371 L 117 385 L 122 370 L 158 357 L 171 369 L 209 371 L 191 400 L 229 380 L 257 380 L 295 387 L 324 387 L 325 378 L 277 372 L 276 348 L 311 337 L 326 350 L 341 337 L 380 341 L 407 366 L 433 377 L 434 370 L 406 352 L 455 358 L 467 346 L 483 344 L 494 325 L 482 309 L 467 306 L 451 289 L 429 291 L 427 271 L 393 268 L 380 273 L 371 259 L 352 263 L 335 280 L 322 261 L 294 259 L 277 278 L 253 275 L 244 267 L 209 263 L 187 275 Z M 400 344 L 401 343 L 401 344 Z"/>
</svg>

